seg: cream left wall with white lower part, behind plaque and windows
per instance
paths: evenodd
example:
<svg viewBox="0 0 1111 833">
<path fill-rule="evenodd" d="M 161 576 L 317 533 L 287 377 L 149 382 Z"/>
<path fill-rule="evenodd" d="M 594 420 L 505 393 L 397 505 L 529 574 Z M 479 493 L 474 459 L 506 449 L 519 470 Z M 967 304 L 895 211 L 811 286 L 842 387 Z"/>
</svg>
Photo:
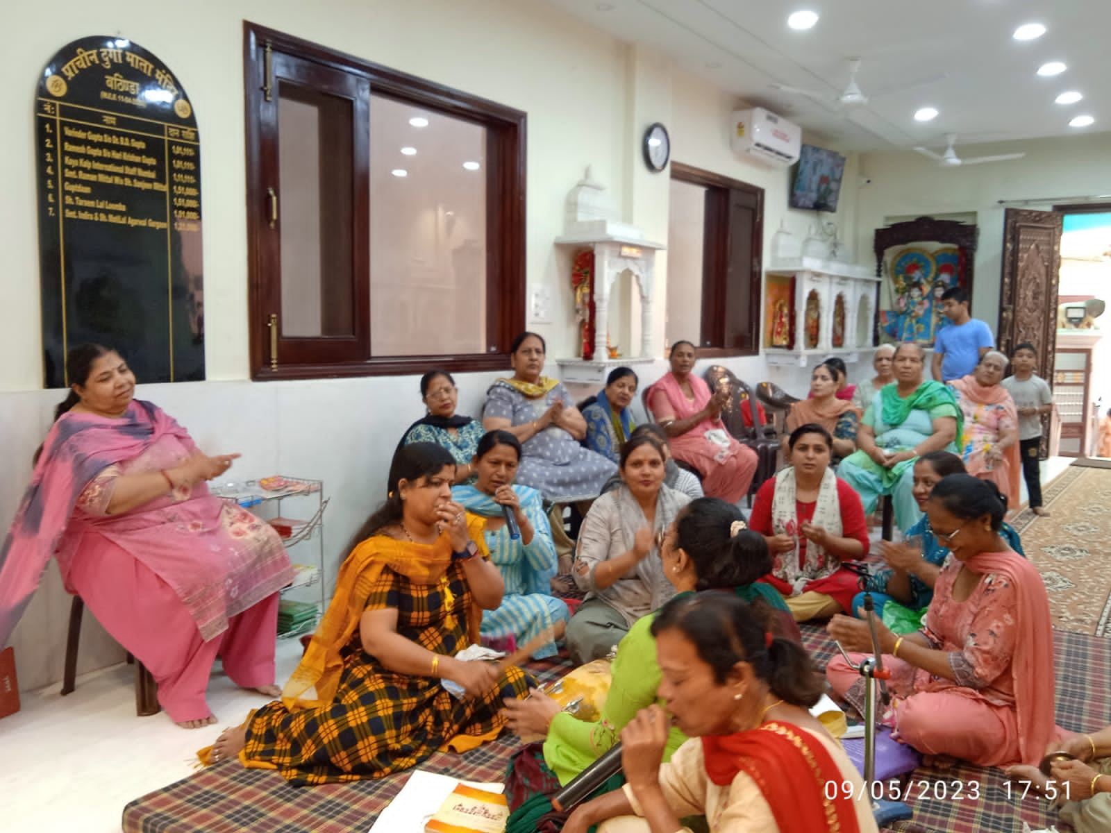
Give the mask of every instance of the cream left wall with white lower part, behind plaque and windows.
<svg viewBox="0 0 1111 833">
<path fill-rule="evenodd" d="M 249 19 L 328 47 L 463 89 L 529 114 L 527 273 L 530 290 L 546 287 L 552 323 L 532 324 L 548 338 L 551 359 L 575 343 L 569 255 L 552 244 L 562 231 L 563 201 L 587 164 L 607 183 L 623 220 L 665 241 L 668 177 L 649 172 L 640 137 L 653 121 L 668 124 L 672 158 L 752 182 L 767 190 L 767 241 L 784 218 L 805 235 L 811 218 L 787 210 L 788 172 L 738 160 L 728 144 L 738 102 L 673 70 L 669 60 L 631 48 L 541 3 L 513 0 L 197 0 L 168 14 L 157 4 L 123 0 L 60 0 L 51 14 L 6 3 L 0 24 L 11 38 L 0 86 L 0 250 L 6 254 L 0 307 L 0 528 L 14 513 L 30 474 L 30 456 L 50 424 L 59 391 L 42 391 L 36 228 L 34 147 L 31 130 L 37 73 L 67 42 L 89 34 L 119 34 L 164 61 L 188 91 L 202 140 L 207 382 L 141 385 L 190 429 L 210 453 L 239 451 L 238 478 L 277 472 L 320 478 L 332 499 L 324 545 L 328 572 L 347 539 L 384 491 L 400 432 L 421 413 L 417 380 L 392 377 L 310 382 L 249 381 L 247 339 L 247 233 L 243 162 L 242 20 Z M 24 113 L 24 118 L 19 114 Z M 841 211 L 835 218 L 855 237 L 850 159 Z M 658 270 L 663 299 L 667 255 Z M 664 304 L 654 304 L 654 350 L 662 355 Z M 761 358 L 725 362 L 753 382 L 783 383 Z M 557 370 L 554 362 L 549 372 Z M 657 362 L 642 374 L 662 374 Z M 498 374 L 458 379 L 460 411 L 478 413 Z M 797 374 L 795 374 L 797 375 Z M 141 382 L 141 380 L 140 380 Z M 798 385 L 792 384 L 798 392 Z M 804 390 L 804 388 L 803 388 Z M 21 686 L 61 675 L 69 599 L 57 570 L 36 595 L 13 640 Z M 87 622 L 89 616 L 87 616 Z M 121 656 L 90 628 L 81 670 Z"/>
</svg>

